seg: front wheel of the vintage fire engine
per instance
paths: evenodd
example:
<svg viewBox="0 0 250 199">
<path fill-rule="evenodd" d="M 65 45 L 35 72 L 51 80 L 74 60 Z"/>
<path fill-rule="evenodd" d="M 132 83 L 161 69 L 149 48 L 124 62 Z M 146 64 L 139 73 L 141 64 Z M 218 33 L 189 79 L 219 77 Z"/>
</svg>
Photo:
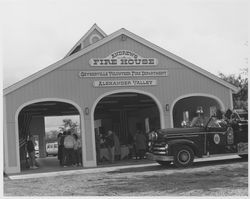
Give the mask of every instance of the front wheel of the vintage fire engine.
<svg viewBox="0 0 250 199">
<path fill-rule="evenodd" d="M 194 151 L 186 145 L 177 146 L 174 152 L 174 165 L 177 168 L 190 167 L 194 161 Z"/>
</svg>

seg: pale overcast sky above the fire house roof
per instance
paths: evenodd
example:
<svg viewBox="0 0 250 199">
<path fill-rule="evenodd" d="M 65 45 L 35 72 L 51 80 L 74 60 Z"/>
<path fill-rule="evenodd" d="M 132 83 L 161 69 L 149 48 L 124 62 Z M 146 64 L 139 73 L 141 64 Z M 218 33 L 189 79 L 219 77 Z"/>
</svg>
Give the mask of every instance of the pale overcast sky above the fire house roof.
<svg viewBox="0 0 250 199">
<path fill-rule="evenodd" d="M 3 0 L 3 87 L 62 59 L 96 23 L 218 75 L 247 67 L 247 0 Z M 0 56 L 1 57 L 1 56 Z"/>
</svg>

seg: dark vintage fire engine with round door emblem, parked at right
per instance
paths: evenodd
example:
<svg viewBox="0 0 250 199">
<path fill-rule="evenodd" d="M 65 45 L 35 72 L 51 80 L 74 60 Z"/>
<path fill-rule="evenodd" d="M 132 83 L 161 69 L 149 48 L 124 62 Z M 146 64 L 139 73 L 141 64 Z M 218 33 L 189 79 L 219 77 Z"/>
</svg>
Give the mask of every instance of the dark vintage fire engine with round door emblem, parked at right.
<svg viewBox="0 0 250 199">
<path fill-rule="evenodd" d="M 149 133 L 147 158 L 167 166 L 189 167 L 194 158 L 237 154 L 248 157 L 248 114 L 234 111 L 230 120 L 209 118 L 202 126 L 159 129 Z"/>
</svg>

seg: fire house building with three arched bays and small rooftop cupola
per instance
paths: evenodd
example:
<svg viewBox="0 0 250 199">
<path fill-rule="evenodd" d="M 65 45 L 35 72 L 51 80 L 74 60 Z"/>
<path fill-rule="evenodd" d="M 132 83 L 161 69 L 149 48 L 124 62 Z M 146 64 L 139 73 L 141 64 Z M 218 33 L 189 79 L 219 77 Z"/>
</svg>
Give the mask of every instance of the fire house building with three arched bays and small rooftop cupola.
<svg viewBox="0 0 250 199">
<path fill-rule="evenodd" d="M 45 156 L 47 116 L 79 115 L 83 167 L 96 167 L 96 133 L 112 129 L 126 149 L 137 128 L 181 127 L 197 107 L 233 108 L 237 88 L 165 49 L 94 24 L 58 62 L 4 89 L 4 171 L 19 173 L 28 135 Z"/>
</svg>

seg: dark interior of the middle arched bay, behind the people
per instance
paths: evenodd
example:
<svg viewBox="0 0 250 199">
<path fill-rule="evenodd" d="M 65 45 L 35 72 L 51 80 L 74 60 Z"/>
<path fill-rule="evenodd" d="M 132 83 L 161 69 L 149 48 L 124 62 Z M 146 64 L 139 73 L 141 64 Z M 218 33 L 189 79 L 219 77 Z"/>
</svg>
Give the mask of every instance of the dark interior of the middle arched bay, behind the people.
<svg viewBox="0 0 250 199">
<path fill-rule="evenodd" d="M 108 159 L 105 146 L 108 130 L 112 130 L 119 139 L 121 154 L 118 159 L 127 159 L 136 155 L 134 136 L 137 130 L 147 137 L 149 131 L 160 128 L 159 110 L 154 100 L 147 95 L 132 92 L 102 98 L 95 108 L 94 120 L 96 140 L 101 142 L 96 143 L 101 148 L 98 164 Z"/>
</svg>

